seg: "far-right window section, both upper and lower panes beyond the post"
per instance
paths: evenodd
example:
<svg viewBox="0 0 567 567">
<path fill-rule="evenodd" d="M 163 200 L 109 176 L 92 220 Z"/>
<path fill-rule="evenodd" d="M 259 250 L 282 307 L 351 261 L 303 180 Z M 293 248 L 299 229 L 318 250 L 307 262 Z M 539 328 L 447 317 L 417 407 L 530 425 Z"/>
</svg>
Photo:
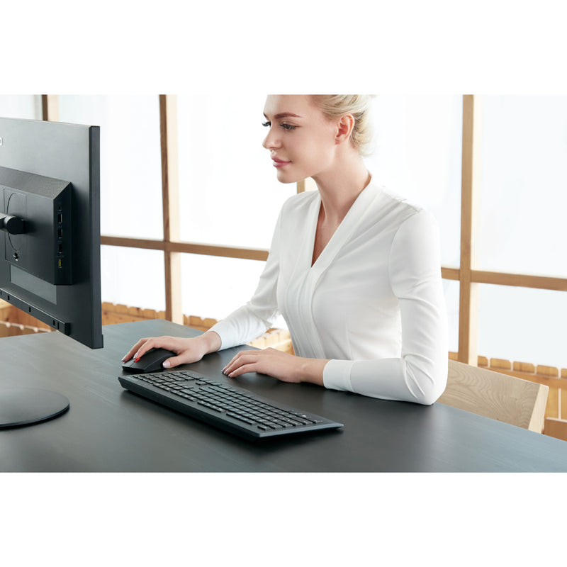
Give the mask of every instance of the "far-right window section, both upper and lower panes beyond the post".
<svg viewBox="0 0 567 567">
<path fill-rule="evenodd" d="M 565 282 L 567 97 L 483 96 L 481 120 L 478 269 Z M 524 281 L 481 285 L 479 353 L 566 367 L 561 281 Z"/>
</svg>

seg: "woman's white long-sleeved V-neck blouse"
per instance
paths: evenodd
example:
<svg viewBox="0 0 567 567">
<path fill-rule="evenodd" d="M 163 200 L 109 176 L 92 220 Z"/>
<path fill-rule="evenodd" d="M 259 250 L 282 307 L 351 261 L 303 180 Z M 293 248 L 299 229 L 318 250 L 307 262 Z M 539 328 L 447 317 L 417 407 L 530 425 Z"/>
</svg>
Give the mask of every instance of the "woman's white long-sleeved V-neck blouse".
<svg viewBox="0 0 567 567">
<path fill-rule="evenodd" d="M 313 266 L 318 191 L 284 203 L 252 299 L 211 330 L 223 349 L 285 318 L 326 388 L 431 404 L 447 383 L 447 314 L 432 215 L 369 184 Z"/>
</svg>

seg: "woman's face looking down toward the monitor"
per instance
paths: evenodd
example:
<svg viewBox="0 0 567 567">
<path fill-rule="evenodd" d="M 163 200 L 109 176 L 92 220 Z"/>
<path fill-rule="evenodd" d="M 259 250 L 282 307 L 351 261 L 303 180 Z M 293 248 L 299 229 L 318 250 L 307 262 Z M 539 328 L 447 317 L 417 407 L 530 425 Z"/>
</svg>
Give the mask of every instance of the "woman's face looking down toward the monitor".
<svg viewBox="0 0 567 567">
<path fill-rule="evenodd" d="M 269 150 L 278 180 L 295 183 L 332 166 L 337 124 L 308 95 L 269 95 L 264 106 L 269 128 L 262 145 Z"/>
</svg>

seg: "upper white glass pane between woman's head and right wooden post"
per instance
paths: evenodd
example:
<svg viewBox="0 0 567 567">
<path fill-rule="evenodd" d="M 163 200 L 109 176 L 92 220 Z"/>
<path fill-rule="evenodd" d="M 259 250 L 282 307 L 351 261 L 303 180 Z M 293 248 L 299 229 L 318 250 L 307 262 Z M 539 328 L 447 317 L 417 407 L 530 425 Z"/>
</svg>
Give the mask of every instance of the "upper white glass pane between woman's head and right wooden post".
<svg viewBox="0 0 567 567">
<path fill-rule="evenodd" d="M 441 262 L 459 266 L 461 96 L 377 96 L 374 179 L 430 210 L 441 230 Z"/>
</svg>

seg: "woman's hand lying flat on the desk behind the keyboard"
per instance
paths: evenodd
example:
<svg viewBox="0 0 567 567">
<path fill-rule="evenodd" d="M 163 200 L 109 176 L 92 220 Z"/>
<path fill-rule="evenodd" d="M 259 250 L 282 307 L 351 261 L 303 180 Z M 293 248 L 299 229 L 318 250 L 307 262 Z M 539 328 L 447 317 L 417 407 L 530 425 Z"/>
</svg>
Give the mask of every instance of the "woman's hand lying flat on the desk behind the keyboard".
<svg viewBox="0 0 567 567">
<path fill-rule="evenodd" d="M 283 382 L 313 382 L 322 386 L 326 360 L 303 359 L 276 349 L 240 351 L 223 369 L 230 378 L 247 372 L 274 376 Z"/>
</svg>

